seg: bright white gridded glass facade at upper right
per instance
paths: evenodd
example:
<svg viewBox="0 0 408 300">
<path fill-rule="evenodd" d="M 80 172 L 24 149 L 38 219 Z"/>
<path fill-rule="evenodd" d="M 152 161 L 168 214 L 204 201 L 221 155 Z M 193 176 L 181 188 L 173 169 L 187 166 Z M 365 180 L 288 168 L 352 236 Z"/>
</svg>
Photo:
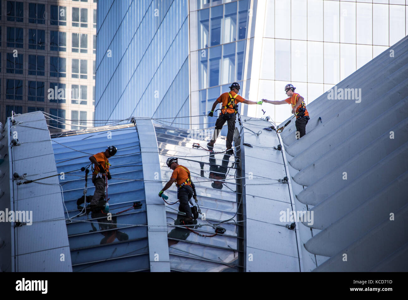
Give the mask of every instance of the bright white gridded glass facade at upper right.
<svg viewBox="0 0 408 300">
<path fill-rule="evenodd" d="M 264 14 L 265 21 L 260 24 L 262 51 L 253 49 L 249 54 L 253 59 L 248 69 L 260 69 L 259 86 L 251 96 L 283 100 L 285 85 L 292 83 L 310 103 L 406 36 L 406 4 L 398 0 L 253 2 L 253 11 Z M 263 104 L 262 109 L 277 123 L 290 117 L 286 105 Z M 264 116 L 261 107 L 248 115 Z"/>
</svg>

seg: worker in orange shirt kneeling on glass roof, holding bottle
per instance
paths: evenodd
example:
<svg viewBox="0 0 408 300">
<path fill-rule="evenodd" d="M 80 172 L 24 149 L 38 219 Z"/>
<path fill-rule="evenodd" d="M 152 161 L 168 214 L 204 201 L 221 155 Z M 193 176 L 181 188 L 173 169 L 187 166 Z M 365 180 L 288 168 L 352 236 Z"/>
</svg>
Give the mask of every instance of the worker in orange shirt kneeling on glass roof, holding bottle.
<svg viewBox="0 0 408 300">
<path fill-rule="evenodd" d="M 190 171 L 180 164 L 178 164 L 177 158 L 169 157 L 166 161 L 167 167 L 173 170 L 170 180 L 166 183 L 164 188 L 159 192 L 159 197 L 162 197 L 162 194 L 166 189 L 171 187 L 173 182 L 177 186 L 177 199 L 180 200 L 179 211 L 186 213 L 186 218 L 180 219 L 184 224 L 193 224 L 193 217 L 197 219 L 198 212 L 197 207 L 193 206 L 193 213 L 191 212 L 191 207 L 188 205 L 191 197 L 194 194 L 193 182 L 191 182 Z"/>
</svg>

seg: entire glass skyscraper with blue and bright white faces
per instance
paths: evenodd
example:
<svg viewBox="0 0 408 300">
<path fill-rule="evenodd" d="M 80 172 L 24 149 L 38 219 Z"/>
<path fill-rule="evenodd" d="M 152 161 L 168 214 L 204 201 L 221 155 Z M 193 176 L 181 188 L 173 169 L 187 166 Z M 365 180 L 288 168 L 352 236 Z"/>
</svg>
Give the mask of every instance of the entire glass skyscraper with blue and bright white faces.
<svg viewBox="0 0 408 300">
<path fill-rule="evenodd" d="M 112 0 L 98 14 L 96 116 L 204 115 L 180 127 L 214 123 L 205 115 L 234 81 L 252 101 L 283 100 L 290 82 L 308 104 L 406 36 L 408 23 L 404 0 Z M 286 105 L 241 109 L 290 116 Z"/>
</svg>

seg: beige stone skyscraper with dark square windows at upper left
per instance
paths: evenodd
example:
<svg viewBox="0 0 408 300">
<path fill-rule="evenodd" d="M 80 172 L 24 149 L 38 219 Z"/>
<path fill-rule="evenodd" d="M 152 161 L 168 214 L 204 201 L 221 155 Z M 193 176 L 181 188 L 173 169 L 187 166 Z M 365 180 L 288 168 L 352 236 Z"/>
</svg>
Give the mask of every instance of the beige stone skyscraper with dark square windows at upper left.
<svg viewBox="0 0 408 300">
<path fill-rule="evenodd" d="M 95 97 L 96 0 L 2 1 L 1 12 L 2 122 L 11 111 L 44 111 L 61 118 L 49 122 L 53 131 L 86 126 Z"/>
</svg>

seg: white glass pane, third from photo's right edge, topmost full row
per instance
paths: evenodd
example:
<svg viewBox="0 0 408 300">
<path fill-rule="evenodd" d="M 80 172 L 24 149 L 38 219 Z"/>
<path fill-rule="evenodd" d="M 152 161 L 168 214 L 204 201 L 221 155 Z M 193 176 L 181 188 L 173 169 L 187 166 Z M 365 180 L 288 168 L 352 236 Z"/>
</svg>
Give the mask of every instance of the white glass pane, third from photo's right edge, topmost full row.
<svg viewBox="0 0 408 300">
<path fill-rule="evenodd" d="M 357 5 L 357 44 L 373 42 L 373 6 L 368 3 Z"/>
</svg>

